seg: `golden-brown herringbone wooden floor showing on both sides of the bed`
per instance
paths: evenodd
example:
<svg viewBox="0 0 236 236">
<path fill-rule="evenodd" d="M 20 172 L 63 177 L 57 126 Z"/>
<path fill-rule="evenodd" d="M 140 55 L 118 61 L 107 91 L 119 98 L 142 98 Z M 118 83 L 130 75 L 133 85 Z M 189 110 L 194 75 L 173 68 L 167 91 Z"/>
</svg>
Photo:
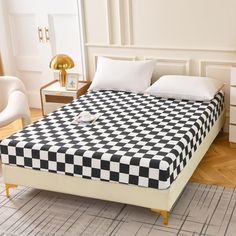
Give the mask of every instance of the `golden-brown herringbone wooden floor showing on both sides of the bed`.
<svg viewBox="0 0 236 236">
<path fill-rule="evenodd" d="M 42 117 L 39 109 L 31 109 L 32 121 Z M 0 139 L 21 129 L 16 121 L 0 128 Z M 228 134 L 219 134 L 192 176 L 192 181 L 236 187 L 236 148 L 231 148 Z"/>
</svg>

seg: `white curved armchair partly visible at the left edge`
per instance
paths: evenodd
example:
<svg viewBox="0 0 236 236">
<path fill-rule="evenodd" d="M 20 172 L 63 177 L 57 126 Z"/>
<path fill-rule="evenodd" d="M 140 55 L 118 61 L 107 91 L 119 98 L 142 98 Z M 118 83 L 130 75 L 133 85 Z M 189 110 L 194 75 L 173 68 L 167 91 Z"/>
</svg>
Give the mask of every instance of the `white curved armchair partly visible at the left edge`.
<svg viewBox="0 0 236 236">
<path fill-rule="evenodd" d="M 22 126 L 31 123 L 24 84 L 13 76 L 0 76 L 0 127 L 21 119 Z"/>
</svg>

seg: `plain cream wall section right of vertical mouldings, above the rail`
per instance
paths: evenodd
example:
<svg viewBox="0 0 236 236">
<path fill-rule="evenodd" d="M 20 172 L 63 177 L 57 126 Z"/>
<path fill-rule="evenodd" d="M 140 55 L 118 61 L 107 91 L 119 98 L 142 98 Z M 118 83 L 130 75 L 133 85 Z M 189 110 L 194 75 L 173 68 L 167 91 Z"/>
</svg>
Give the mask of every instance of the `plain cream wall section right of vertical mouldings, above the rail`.
<svg viewBox="0 0 236 236">
<path fill-rule="evenodd" d="M 130 1 L 135 45 L 236 48 L 235 1 Z"/>
</svg>

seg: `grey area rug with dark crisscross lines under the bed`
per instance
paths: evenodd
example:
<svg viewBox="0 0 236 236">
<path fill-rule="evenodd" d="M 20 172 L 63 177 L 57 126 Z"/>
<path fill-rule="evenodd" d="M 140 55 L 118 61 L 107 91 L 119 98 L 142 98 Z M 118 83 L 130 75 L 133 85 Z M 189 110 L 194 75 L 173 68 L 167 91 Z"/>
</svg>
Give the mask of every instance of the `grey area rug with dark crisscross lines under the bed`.
<svg viewBox="0 0 236 236">
<path fill-rule="evenodd" d="M 149 209 L 18 187 L 5 197 L 1 181 L 0 235 L 236 235 L 233 188 L 189 183 L 169 225 Z"/>
</svg>

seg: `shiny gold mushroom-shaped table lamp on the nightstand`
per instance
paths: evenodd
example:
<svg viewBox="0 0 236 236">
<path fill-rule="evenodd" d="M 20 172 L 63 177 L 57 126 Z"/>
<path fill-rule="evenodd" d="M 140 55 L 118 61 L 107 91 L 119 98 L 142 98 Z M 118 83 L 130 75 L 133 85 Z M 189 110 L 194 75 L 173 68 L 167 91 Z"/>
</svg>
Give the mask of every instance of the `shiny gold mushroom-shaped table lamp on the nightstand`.
<svg viewBox="0 0 236 236">
<path fill-rule="evenodd" d="M 66 69 L 74 67 L 74 62 L 68 55 L 57 54 L 50 61 L 49 67 L 54 70 L 59 70 L 59 83 L 61 87 L 66 84 Z"/>
</svg>

